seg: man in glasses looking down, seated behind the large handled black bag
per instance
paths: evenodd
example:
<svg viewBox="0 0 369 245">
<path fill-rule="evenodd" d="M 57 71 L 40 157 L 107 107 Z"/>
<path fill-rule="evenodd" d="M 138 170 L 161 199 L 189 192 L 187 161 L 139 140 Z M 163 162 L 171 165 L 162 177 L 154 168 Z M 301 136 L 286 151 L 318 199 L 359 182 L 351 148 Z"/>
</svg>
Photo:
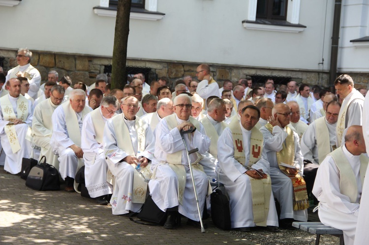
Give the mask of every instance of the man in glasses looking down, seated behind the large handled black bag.
<svg viewBox="0 0 369 245">
<path fill-rule="evenodd" d="M 46 86 L 45 86 L 46 88 Z M 54 110 L 62 104 L 65 89 L 62 85 L 54 85 L 51 88 L 50 97 L 36 105 L 32 119 L 33 142 L 41 147 L 40 158 L 45 156 L 47 163 L 59 170 L 58 156 L 53 153 L 50 139 L 53 134 L 51 116 Z"/>
</svg>

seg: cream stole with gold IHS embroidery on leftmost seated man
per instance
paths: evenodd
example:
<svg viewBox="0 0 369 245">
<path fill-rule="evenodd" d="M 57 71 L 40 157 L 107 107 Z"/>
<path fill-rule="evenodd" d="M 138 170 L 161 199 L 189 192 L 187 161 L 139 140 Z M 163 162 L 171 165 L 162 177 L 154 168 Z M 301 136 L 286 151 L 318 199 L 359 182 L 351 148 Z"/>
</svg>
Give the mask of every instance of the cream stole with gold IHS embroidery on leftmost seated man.
<svg viewBox="0 0 369 245">
<path fill-rule="evenodd" d="M 10 96 L 10 95 L 9 95 Z M 2 96 L 0 98 L 0 106 L 2 110 L 3 120 L 4 121 L 13 121 L 14 119 L 20 119 L 22 121 L 27 120 L 28 116 L 28 100 L 23 96 L 19 95 L 17 100 L 17 116 L 13 111 L 13 106 L 9 100 L 9 96 Z M 21 149 L 21 145 L 19 144 L 17 132 L 15 131 L 14 124 L 5 125 L 4 131 L 6 136 L 8 137 L 9 144 L 13 153 L 18 152 Z"/>
</svg>

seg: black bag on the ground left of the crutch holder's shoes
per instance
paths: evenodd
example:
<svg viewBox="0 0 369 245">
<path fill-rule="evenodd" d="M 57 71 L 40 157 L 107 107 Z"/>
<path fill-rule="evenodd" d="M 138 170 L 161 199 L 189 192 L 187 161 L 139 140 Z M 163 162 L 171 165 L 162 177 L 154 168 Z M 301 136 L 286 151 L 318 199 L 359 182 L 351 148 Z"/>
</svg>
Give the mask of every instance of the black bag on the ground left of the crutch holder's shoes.
<svg viewBox="0 0 369 245">
<path fill-rule="evenodd" d="M 156 206 L 153 198 L 151 195 L 149 195 L 146 198 L 145 203 L 142 205 L 141 212 L 137 214 L 137 218 L 159 225 L 164 225 L 165 220 L 167 219 L 167 214 Z"/>
</svg>

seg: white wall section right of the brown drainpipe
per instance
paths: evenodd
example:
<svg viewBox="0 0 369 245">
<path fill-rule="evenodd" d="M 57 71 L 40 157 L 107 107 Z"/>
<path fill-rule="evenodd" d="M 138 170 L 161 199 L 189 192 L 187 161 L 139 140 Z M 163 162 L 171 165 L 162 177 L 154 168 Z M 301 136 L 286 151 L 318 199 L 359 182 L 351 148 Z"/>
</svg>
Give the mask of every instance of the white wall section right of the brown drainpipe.
<svg viewBox="0 0 369 245">
<path fill-rule="evenodd" d="M 369 42 L 350 42 L 369 36 L 368 15 L 369 0 L 343 1 L 338 52 L 339 72 L 369 72 Z"/>
</svg>

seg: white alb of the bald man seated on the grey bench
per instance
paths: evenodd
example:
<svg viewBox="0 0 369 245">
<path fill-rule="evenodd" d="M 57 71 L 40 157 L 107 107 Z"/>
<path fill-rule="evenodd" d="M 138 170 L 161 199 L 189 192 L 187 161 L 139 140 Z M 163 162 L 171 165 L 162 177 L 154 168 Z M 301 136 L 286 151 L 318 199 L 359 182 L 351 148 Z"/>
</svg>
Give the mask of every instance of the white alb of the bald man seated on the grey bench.
<svg viewBox="0 0 369 245">
<path fill-rule="evenodd" d="M 358 187 L 356 202 L 351 203 L 348 196 L 341 194 L 339 190 L 339 170 L 331 156 L 327 156 L 324 161 L 320 163 L 312 193 L 319 201 L 318 215 L 320 221 L 325 225 L 342 230 L 344 243 L 346 245 L 352 245 L 355 240 L 355 230 L 362 192 L 359 172 L 360 155 L 352 155 L 345 146 L 342 146 L 342 151 L 354 171 Z"/>
</svg>

